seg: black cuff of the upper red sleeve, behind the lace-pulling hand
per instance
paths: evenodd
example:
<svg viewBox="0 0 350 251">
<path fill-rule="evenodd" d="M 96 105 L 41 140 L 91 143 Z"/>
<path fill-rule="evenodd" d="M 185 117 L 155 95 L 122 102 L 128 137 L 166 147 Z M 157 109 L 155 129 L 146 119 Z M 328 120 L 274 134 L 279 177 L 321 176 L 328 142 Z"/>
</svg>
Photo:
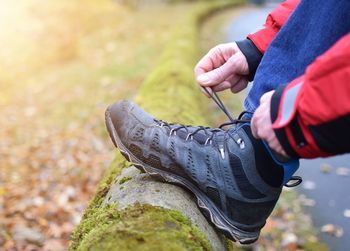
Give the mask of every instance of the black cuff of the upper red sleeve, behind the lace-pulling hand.
<svg viewBox="0 0 350 251">
<path fill-rule="evenodd" d="M 244 54 L 248 62 L 248 67 L 249 67 L 248 80 L 253 81 L 256 73 L 256 69 L 258 68 L 261 62 L 263 54 L 249 39 L 237 41 L 236 43 L 238 48 L 242 51 L 242 53 Z"/>
</svg>

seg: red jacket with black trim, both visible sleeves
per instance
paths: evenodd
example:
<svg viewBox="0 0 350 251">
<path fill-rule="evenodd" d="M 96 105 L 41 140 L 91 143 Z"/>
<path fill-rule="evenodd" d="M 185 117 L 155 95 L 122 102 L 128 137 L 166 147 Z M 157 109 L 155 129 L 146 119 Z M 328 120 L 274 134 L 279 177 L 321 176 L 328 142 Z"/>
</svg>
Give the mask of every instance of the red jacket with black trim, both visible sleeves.
<svg viewBox="0 0 350 251">
<path fill-rule="evenodd" d="M 248 38 L 264 53 L 299 0 L 273 10 L 265 27 Z M 303 76 L 279 88 L 272 99 L 272 122 L 280 142 L 295 157 L 350 152 L 350 33 L 308 66 Z M 273 111 L 275 110 L 275 111 Z"/>
</svg>

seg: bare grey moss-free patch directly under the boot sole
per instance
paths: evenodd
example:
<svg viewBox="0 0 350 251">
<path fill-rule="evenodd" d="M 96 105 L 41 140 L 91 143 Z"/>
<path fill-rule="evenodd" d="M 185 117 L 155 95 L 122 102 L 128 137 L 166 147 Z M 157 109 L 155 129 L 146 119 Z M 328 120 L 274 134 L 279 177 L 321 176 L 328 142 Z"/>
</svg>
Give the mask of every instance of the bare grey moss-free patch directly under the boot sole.
<svg viewBox="0 0 350 251">
<path fill-rule="evenodd" d="M 178 210 L 204 233 L 214 251 L 226 250 L 225 240 L 208 223 L 187 191 L 156 181 L 148 174 L 141 174 L 133 166 L 124 168 L 121 175 L 114 180 L 102 205 L 109 203 L 118 203 L 121 210 L 135 203 Z"/>
</svg>

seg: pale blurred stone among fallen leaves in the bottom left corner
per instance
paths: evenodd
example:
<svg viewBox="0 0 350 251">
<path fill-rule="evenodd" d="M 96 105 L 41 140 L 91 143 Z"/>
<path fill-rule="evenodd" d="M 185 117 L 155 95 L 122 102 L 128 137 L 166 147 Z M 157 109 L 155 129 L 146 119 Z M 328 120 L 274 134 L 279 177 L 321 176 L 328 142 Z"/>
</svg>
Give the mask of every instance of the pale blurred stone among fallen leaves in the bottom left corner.
<svg viewBox="0 0 350 251">
<path fill-rule="evenodd" d="M 27 241 L 39 246 L 44 244 L 44 236 L 36 229 L 32 229 L 23 225 L 16 225 L 12 231 L 14 240 Z"/>
</svg>

